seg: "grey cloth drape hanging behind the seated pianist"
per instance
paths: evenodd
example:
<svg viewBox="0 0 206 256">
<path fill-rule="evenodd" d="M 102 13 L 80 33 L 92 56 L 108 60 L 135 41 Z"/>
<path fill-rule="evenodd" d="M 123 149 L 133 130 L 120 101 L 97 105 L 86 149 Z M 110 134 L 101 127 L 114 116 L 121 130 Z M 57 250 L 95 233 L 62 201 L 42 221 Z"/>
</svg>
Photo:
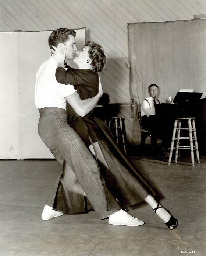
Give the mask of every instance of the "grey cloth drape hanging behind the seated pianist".
<svg viewBox="0 0 206 256">
<path fill-rule="evenodd" d="M 129 23 L 130 91 L 136 112 L 148 86 L 160 87 L 160 102 L 175 97 L 180 89 L 194 89 L 206 95 L 206 20 Z M 137 113 L 133 142 L 140 141 Z"/>
</svg>

